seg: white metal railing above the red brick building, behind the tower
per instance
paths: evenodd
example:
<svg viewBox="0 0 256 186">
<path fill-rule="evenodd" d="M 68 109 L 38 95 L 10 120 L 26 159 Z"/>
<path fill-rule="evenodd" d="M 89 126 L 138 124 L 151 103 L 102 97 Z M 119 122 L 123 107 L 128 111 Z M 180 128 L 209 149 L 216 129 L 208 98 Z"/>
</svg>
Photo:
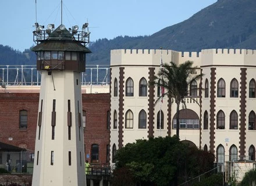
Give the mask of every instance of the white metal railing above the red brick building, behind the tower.
<svg viewBox="0 0 256 186">
<path fill-rule="evenodd" d="M 109 84 L 108 65 L 87 65 L 81 73 L 81 84 Z M 0 65 L 1 85 L 40 85 L 41 74 L 36 65 Z"/>
</svg>

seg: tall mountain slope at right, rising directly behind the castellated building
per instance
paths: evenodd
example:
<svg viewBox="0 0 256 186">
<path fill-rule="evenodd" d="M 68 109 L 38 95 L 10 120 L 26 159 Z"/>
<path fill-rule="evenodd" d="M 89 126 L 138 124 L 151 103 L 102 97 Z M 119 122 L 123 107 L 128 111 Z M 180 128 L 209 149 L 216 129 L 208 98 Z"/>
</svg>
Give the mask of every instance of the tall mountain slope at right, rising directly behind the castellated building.
<svg viewBox="0 0 256 186">
<path fill-rule="evenodd" d="M 219 0 L 190 19 L 145 38 L 135 48 L 200 51 L 205 48 L 256 48 L 256 1 Z"/>
</svg>

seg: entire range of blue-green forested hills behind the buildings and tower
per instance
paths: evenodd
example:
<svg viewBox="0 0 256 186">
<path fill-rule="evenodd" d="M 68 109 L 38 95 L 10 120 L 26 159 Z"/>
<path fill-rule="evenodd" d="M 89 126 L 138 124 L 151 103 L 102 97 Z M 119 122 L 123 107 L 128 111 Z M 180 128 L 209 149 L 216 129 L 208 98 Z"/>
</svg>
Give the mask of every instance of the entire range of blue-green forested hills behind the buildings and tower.
<svg viewBox="0 0 256 186">
<path fill-rule="evenodd" d="M 87 64 L 109 65 L 111 49 L 158 49 L 159 47 L 176 51 L 201 51 L 205 48 L 256 49 L 255 17 L 255 0 L 218 0 L 189 19 L 163 28 L 150 36 L 117 36 L 113 40 L 104 38 L 91 42 L 88 47 L 93 53 L 87 55 Z M 0 45 L 1 65 L 3 63 L 35 64 L 35 59 L 32 60 L 33 53 L 30 51 L 26 50 L 22 53 L 12 49 L 16 55 L 8 60 L 10 54 L 7 55 L 8 58 L 2 54 L 2 47 Z"/>
</svg>

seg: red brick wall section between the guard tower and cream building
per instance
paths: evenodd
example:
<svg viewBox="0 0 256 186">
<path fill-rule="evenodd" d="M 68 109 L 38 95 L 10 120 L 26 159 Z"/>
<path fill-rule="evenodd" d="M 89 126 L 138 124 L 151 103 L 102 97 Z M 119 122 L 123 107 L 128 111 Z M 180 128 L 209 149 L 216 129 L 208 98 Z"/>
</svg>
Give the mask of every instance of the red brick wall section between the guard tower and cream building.
<svg viewBox="0 0 256 186">
<path fill-rule="evenodd" d="M 84 142 L 86 158 L 91 162 L 91 145 L 99 145 L 99 161 L 91 163 L 106 163 L 107 145 L 110 131 L 107 129 L 107 112 L 110 110 L 110 94 L 83 94 L 83 110 L 86 111 L 86 128 Z"/>
</svg>

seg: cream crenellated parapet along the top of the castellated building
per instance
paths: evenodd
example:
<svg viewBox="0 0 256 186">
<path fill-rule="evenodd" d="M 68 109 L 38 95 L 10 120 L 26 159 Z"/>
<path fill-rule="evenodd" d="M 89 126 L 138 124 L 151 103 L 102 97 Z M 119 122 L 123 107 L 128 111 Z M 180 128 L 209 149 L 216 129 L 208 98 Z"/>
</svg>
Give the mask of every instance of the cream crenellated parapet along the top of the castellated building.
<svg viewBox="0 0 256 186">
<path fill-rule="evenodd" d="M 177 64 L 191 60 L 194 66 L 256 66 L 256 50 L 202 49 L 201 52 L 179 52 L 160 49 L 115 49 L 111 66 L 159 66 L 170 61 Z"/>
</svg>

